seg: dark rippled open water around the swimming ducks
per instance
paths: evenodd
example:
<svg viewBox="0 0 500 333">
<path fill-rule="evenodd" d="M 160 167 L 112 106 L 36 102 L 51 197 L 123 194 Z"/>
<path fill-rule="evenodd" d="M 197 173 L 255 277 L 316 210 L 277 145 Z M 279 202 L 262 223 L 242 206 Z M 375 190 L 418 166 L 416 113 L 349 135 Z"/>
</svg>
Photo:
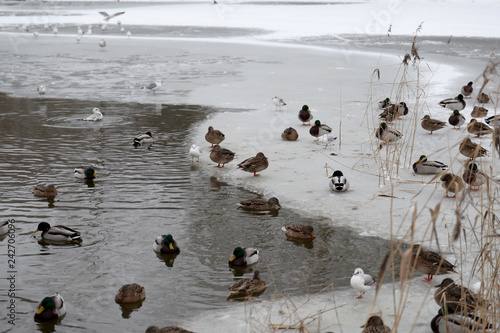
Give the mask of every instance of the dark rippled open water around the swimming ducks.
<svg viewBox="0 0 500 333">
<path fill-rule="evenodd" d="M 104 120 L 81 121 L 93 107 Z M 284 292 L 306 296 L 331 283 L 350 288 L 346 272 L 378 271 L 388 241 L 333 228 L 329 219 L 290 207 L 272 214 L 238 210 L 239 201 L 257 195 L 201 171 L 187 153 L 192 129 L 211 112 L 198 105 L 0 95 L 1 218 L 15 220 L 17 272 L 15 326 L 6 324 L 9 285 L 0 281 L 1 331 L 141 332 L 151 324 L 177 325 L 207 311 L 241 306 L 226 300 L 227 288 L 254 269 L 269 284 L 258 300 Z M 156 142 L 150 150 L 135 149 L 132 139 L 146 131 Z M 93 183 L 74 178 L 73 169 L 82 165 L 96 170 Z M 59 195 L 33 196 L 31 189 L 39 184 L 54 184 Z M 83 240 L 46 244 L 33 233 L 42 221 L 77 229 Z M 313 225 L 317 238 L 287 240 L 281 226 L 290 223 Z M 181 248 L 173 261 L 152 249 L 154 239 L 167 233 Z M 2 271 L 7 246 L 7 239 L 0 241 Z M 237 246 L 260 249 L 260 262 L 231 270 L 227 262 Z M 145 287 L 146 300 L 122 308 L 114 295 L 132 282 Z M 55 325 L 36 323 L 36 304 L 56 292 L 68 314 Z"/>
</svg>

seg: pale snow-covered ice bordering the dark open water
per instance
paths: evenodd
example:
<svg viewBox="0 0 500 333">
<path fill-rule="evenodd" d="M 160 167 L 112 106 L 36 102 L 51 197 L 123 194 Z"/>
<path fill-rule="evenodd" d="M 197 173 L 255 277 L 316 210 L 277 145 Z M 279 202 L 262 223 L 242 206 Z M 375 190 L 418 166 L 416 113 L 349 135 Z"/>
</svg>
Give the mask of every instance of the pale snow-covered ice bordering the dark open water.
<svg viewBox="0 0 500 333">
<path fill-rule="evenodd" d="M 433 247 L 435 243 L 431 242 L 428 229 L 429 208 L 441 202 L 436 228 L 440 244 L 443 249 L 448 248 L 457 201 L 443 199 L 444 191 L 439 183 L 432 181 L 432 176 L 415 175 L 411 164 L 424 154 L 450 165 L 453 172 L 461 174 L 465 158 L 458 154 L 457 143 L 467 133 L 451 130 L 449 126 L 431 136 L 419 123 L 424 114 L 447 121 L 450 112 L 444 111 L 437 103 L 456 96 L 468 81 L 475 81 L 475 87 L 479 88 L 482 79 L 476 78 L 486 63 L 455 58 L 446 53 L 422 53 L 424 59 L 417 62 L 416 67 L 408 66 L 404 72 L 401 62 L 404 53 L 410 51 L 411 37 L 422 22 L 419 35 L 444 36 L 443 49 L 446 49 L 450 35 L 491 37 L 492 43 L 497 43 L 500 4 L 489 1 L 425 2 L 425 5 L 421 2 L 258 3 L 104 3 L 91 8 L 86 4 L 67 7 L 61 3 L 43 3 L 33 4 L 29 8 L 30 15 L 22 14 L 26 8 L 1 5 L 0 51 L 9 64 L 9 70 L 6 79 L 0 83 L 0 90 L 32 96 L 38 84 L 49 81 L 48 95 L 51 97 L 80 96 L 155 104 L 193 103 L 242 109 L 241 112 L 216 113 L 193 129 L 193 141 L 206 146 L 204 134 L 208 126 L 214 126 L 226 135 L 223 147 L 237 154 L 234 162 L 219 170 L 213 168 L 205 148 L 200 162 L 203 172 L 262 193 L 265 197 L 277 196 L 284 208 L 326 216 L 334 225 L 349 225 L 360 234 L 387 239 L 409 240 L 407 233 L 416 207 L 421 213 L 416 240 Z M 97 14 L 100 10 L 110 13 L 123 10 L 126 14 L 110 21 L 109 29 L 101 32 L 97 29 L 98 24 L 103 23 Z M 230 37 L 218 38 L 208 32 L 204 36 L 189 38 L 161 34 L 146 36 L 144 30 L 138 35 L 132 31 L 132 37 L 127 38 L 117 30 L 117 19 L 125 27 L 143 29 L 150 25 L 195 26 L 208 27 L 209 30 L 250 29 L 255 33 L 233 33 Z M 54 37 L 50 31 L 42 30 L 45 24 L 57 25 L 62 32 Z M 85 35 L 77 44 L 76 26 L 82 25 L 86 29 L 89 24 L 96 25 L 97 31 Z M 31 26 L 30 32 L 22 31 L 23 25 Z M 290 42 L 312 37 L 320 44 L 322 36 L 341 39 L 342 34 L 358 34 L 369 40 L 372 34 L 387 34 L 390 25 L 391 34 L 410 36 L 407 46 L 403 46 L 405 51 L 377 46 L 366 52 L 352 45 L 334 48 Z M 21 28 L 16 28 L 18 26 Z M 32 36 L 35 29 L 40 30 L 37 40 Z M 70 29 L 73 32 L 69 32 Z M 100 52 L 97 41 L 103 36 L 108 46 Z M 287 43 L 280 42 L 283 40 Z M 16 58 L 21 55 L 25 58 Z M 136 61 L 136 66 L 127 65 L 131 59 Z M 16 67 L 16 64 L 23 65 Z M 380 70 L 380 80 L 372 75 L 375 69 Z M 74 76 L 76 72 L 78 79 Z M 157 94 L 151 96 L 137 92 L 141 84 L 154 81 L 156 77 L 165 82 L 165 87 Z M 65 85 L 68 81 L 71 84 Z M 96 87 L 107 89 L 95 92 Z M 486 87 L 492 97 L 496 97 L 495 90 L 498 87 L 494 83 Z M 271 98 L 275 95 L 287 102 L 282 111 L 274 110 Z M 398 148 L 388 146 L 378 153 L 378 142 L 373 136 L 378 125 L 376 107 L 377 101 L 385 97 L 391 97 L 393 101 L 404 100 L 410 108 L 410 115 L 395 123 L 404 133 Z M 303 104 L 309 105 L 315 120 L 333 128 L 333 134 L 338 136 L 333 146 L 317 145 L 308 133 L 309 127 L 301 126 L 297 113 Z M 463 112 L 467 122 L 473 105 L 474 99 L 467 100 Z M 491 114 L 495 112 L 493 104 L 486 107 Z M 297 142 L 285 142 L 280 137 L 281 132 L 290 126 L 299 131 Z M 498 179 L 499 162 L 492 152 L 491 137 L 475 141 L 490 150 L 490 157 L 481 159 L 480 168 L 491 166 L 491 175 Z M 258 151 L 264 152 L 270 161 L 269 168 L 260 177 L 236 169 L 239 161 Z M 400 156 L 399 161 L 394 156 Z M 330 192 L 327 173 L 331 174 L 333 169 L 344 172 L 351 182 L 350 191 Z M 498 193 L 498 184 L 493 184 L 493 191 Z M 465 200 L 477 205 L 484 196 L 484 192 L 470 193 Z M 473 209 L 464 213 L 468 239 L 473 238 L 469 221 L 474 221 L 479 213 L 482 212 Z M 477 244 L 465 254 L 465 250 L 461 251 L 455 243 L 448 255 L 451 261 L 463 256 L 460 272 L 465 284 L 478 279 L 467 273 L 476 255 L 475 250 Z M 351 273 L 346 272 L 346 276 Z M 453 277 L 458 278 L 458 275 Z M 410 291 L 405 312 L 407 320 L 399 327 L 402 332 L 410 332 L 414 323 L 414 332 L 428 332 L 430 319 L 437 312 L 434 301 L 426 297 L 427 284 L 421 283 L 420 279 L 421 276 L 415 278 Z M 373 309 L 382 311 L 389 325 L 394 322 L 395 312 L 391 295 L 396 299 L 399 297 L 398 288 L 394 289 L 393 294 L 393 285 L 384 285 L 381 289 L 384 296 L 376 300 Z M 351 289 L 335 290 L 336 306 L 340 307 L 336 313 L 321 316 L 319 331 L 359 330 L 370 312 L 373 291 L 364 300 L 358 301 L 354 296 Z M 329 303 L 332 300 L 331 292 L 321 295 L 307 303 L 300 317 L 333 307 Z M 294 301 L 302 304 L 306 300 Z M 422 313 L 418 313 L 421 306 Z M 248 307 L 245 316 L 242 305 L 235 307 L 232 313 L 209 313 L 193 318 L 183 326 L 198 332 L 234 332 L 234 327 L 238 327 L 238 332 L 265 331 L 261 325 L 267 324 L 268 320 L 277 323 L 282 318 L 278 309 L 274 309 L 272 318 L 268 319 L 268 307 L 269 304 L 265 303 Z M 255 320 L 250 320 L 254 317 Z M 210 329 L 206 327 L 207 321 L 211 324 Z M 337 327 L 339 323 L 341 326 Z M 315 331 L 317 325 L 318 322 L 311 324 L 310 331 Z"/>
</svg>

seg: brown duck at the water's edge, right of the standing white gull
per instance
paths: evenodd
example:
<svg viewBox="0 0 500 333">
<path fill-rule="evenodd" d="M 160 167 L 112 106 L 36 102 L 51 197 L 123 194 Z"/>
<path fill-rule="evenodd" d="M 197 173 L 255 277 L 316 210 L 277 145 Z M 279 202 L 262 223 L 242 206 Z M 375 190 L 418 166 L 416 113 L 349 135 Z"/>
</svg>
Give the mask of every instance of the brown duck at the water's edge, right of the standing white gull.
<svg viewBox="0 0 500 333">
<path fill-rule="evenodd" d="M 431 281 L 434 275 L 456 273 L 454 271 L 455 266 L 436 252 L 426 251 L 418 244 L 413 245 L 407 251 L 411 255 L 410 263 L 415 269 L 427 274 L 427 278 L 423 279 L 423 282 Z"/>
</svg>

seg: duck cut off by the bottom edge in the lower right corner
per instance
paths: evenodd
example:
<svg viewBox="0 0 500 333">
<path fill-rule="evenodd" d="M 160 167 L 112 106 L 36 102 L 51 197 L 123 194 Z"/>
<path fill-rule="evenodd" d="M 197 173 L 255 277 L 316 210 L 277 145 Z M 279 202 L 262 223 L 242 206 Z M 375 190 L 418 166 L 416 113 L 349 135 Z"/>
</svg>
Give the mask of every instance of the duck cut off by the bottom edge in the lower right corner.
<svg viewBox="0 0 500 333">
<path fill-rule="evenodd" d="M 455 313 L 450 307 L 442 307 L 432 318 L 431 329 L 434 333 L 473 333 L 489 332 L 493 326 L 485 319 L 474 314 Z"/>
</svg>

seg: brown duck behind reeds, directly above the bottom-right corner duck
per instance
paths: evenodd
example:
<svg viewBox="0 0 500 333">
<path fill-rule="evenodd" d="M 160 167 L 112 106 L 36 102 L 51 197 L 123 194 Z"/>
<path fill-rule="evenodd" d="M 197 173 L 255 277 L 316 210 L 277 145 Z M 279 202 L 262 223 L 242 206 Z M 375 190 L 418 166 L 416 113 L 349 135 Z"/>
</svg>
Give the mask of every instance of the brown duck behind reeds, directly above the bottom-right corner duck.
<svg viewBox="0 0 500 333">
<path fill-rule="evenodd" d="M 469 288 L 455 284 L 452 279 L 444 279 L 434 292 L 434 300 L 443 307 L 447 306 L 454 312 L 474 312 L 478 306 L 486 306 L 486 301 Z"/>
</svg>

